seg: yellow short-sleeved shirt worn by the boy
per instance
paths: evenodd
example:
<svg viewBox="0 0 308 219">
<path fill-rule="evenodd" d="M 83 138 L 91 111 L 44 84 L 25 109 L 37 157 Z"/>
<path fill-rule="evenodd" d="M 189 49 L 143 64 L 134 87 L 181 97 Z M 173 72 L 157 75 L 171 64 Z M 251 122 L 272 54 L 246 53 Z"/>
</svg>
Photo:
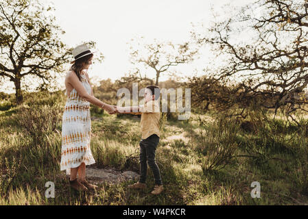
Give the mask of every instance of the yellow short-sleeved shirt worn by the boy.
<svg viewBox="0 0 308 219">
<path fill-rule="evenodd" d="M 159 131 L 161 113 L 159 112 L 158 101 L 149 101 L 144 105 L 140 105 L 139 111 L 141 112 L 141 138 L 145 139 L 153 134 L 158 137 L 161 136 Z"/>
</svg>

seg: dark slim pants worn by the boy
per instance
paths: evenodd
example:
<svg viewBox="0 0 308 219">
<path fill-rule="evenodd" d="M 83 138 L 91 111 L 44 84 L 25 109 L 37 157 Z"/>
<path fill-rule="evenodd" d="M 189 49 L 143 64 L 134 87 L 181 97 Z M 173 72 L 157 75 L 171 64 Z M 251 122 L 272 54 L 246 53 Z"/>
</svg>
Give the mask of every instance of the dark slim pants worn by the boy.
<svg viewBox="0 0 308 219">
<path fill-rule="evenodd" d="M 147 178 L 147 164 L 149 164 L 155 179 L 156 185 L 162 185 L 161 172 L 155 162 L 156 147 L 159 137 L 156 134 L 140 141 L 140 183 L 145 183 Z"/>
</svg>

